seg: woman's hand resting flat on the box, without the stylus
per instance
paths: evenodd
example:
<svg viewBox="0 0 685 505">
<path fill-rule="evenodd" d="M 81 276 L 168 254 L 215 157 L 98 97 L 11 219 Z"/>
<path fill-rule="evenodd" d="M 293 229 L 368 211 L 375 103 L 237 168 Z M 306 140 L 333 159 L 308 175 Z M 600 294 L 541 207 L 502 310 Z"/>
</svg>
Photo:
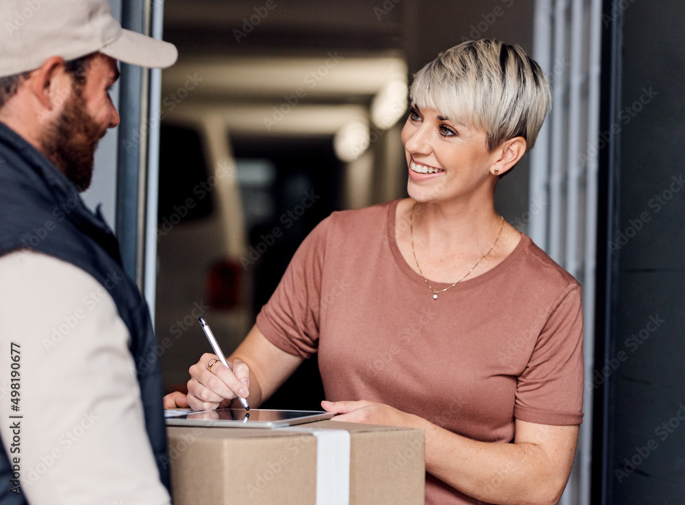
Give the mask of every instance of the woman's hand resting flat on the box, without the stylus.
<svg viewBox="0 0 685 505">
<path fill-rule="evenodd" d="M 327 412 L 337 412 L 334 421 L 350 423 L 380 424 L 383 426 L 400 426 L 403 428 L 425 428 L 428 421 L 408 414 L 385 404 L 375 402 L 321 402 Z"/>
</svg>

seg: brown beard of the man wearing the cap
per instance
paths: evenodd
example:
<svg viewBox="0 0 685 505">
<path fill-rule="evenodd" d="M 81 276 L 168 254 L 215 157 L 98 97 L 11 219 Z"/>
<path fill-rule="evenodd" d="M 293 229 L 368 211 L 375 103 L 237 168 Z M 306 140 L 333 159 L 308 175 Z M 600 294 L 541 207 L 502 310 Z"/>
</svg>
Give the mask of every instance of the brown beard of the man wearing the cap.
<svg viewBox="0 0 685 505">
<path fill-rule="evenodd" d="M 95 147 L 106 131 L 90 117 L 82 89 L 75 86 L 62 115 L 43 134 L 42 151 L 82 192 L 90 186 Z"/>
</svg>

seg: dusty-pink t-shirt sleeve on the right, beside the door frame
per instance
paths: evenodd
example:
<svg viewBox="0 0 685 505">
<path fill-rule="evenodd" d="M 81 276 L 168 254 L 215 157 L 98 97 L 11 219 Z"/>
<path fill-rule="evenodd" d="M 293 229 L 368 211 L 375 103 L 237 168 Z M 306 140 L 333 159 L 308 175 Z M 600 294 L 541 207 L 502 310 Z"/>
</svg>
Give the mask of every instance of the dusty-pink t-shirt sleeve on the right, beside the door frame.
<svg viewBox="0 0 685 505">
<path fill-rule="evenodd" d="M 551 425 L 583 419 L 583 316 L 580 286 L 569 284 L 551 307 L 516 386 L 514 417 Z"/>
</svg>

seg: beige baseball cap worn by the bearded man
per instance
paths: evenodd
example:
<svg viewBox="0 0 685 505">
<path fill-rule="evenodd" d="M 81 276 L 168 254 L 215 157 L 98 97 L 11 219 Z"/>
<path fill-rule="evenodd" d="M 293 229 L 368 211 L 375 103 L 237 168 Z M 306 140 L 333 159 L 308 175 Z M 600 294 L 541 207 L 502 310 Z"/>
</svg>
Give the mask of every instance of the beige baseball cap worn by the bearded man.
<svg viewBox="0 0 685 505">
<path fill-rule="evenodd" d="M 178 57 L 173 44 L 123 29 L 107 0 L 0 0 L 0 77 L 96 51 L 160 69 Z"/>
</svg>

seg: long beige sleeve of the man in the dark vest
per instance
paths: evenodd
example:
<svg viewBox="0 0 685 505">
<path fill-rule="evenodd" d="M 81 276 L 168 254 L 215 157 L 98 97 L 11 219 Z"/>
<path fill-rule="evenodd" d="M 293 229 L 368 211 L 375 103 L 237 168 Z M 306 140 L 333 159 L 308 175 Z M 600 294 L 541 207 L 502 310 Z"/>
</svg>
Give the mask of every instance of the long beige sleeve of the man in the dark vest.
<svg viewBox="0 0 685 505">
<path fill-rule="evenodd" d="M 20 460 L 27 501 L 169 504 L 109 293 L 72 264 L 28 251 L 0 257 L 0 286 L 0 436 Z M 11 356 L 21 358 L 18 411 Z M 22 416 L 11 419 L 21 424 L 18 451 L 10 415 Z"/>
</svg>

